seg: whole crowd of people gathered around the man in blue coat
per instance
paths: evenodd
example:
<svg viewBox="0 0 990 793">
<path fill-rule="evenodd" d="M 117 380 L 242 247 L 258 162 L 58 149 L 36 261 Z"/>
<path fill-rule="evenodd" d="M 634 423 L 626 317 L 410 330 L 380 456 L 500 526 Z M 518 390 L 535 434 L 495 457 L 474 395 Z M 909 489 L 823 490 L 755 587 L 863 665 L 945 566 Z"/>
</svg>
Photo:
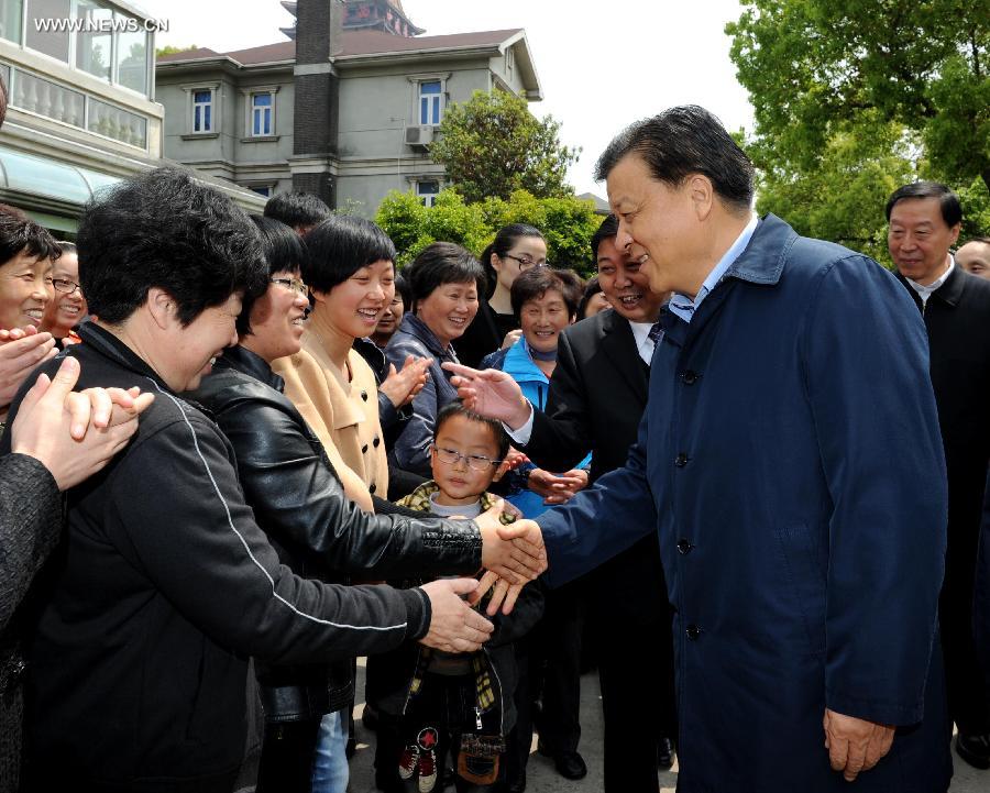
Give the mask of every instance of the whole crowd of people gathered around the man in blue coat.
<svg viewBox="0 0 990 793">
<path fill-rule="evenodd" d="M 344 793 L 361 656 L 384 793 L 583 778 L 582 661 L 606 793 L 990 769 L 990 241 L 801 238 L 696 107 L 597 176 L 587 283 L 177 168 L 0 205 L 0 791 Z"/>
</svg>

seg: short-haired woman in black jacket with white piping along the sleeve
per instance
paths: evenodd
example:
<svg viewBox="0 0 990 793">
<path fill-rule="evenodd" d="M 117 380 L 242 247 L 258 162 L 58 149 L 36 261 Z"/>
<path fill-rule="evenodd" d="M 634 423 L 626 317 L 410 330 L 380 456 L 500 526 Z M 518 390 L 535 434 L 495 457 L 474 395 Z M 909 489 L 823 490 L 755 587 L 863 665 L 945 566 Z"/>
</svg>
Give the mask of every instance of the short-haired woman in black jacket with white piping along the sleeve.
<svg viewBox="0 0 990 793">
<path fill-rule="evenodd" d="M 81 362 L 79 386 L 136 383 L 155 400 L 121 455 L 68 499 L 66 552 L 32 593 L 31 784 L 229 793 L 249 657 L 324 663 L 429 640 L 444 606 L 428 590 L 293 574 L 244 500 L 230 441 L 182 397 L 238 342 L 242 296 L 268 287 L 243 210 L 160 168 L 100 192 L 78 242 L 99 317 L 65 352 Z"/>
</svg>

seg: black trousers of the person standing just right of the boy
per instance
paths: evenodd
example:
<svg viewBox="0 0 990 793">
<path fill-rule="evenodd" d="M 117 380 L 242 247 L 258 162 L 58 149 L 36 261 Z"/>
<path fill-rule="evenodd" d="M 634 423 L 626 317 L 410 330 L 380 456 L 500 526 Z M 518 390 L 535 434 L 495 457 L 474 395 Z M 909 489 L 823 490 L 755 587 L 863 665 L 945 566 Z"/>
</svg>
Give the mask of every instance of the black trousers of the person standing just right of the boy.
<svg viewBox="0 0 990 793">
<path fill-rule="evenodd" d="M 552 755 L 578 750 L 585 591 L 581 581 L 550 590 L 544 596 L 543 618 L 516 642 L 519 682 L 516 728 L 509 740 L 510 779 L 526 770 L 534 728 Z"/>
</svg>

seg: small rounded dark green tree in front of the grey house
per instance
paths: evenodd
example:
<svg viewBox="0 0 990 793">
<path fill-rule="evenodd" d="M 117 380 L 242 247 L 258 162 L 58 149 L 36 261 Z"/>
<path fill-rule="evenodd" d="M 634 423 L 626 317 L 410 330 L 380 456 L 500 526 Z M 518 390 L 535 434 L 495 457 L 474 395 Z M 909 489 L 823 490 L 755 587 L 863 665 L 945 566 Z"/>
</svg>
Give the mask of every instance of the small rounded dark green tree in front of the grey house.
<svg viewBox="0 0 990 793">
<path fill-rule="evenodd" d="M 475 91 L 443 113 L 430 157 L 443 165 L 468 203 L 494 196 L 507 200 L 516 190 L 538 198 L 573 194 L 568 166 L 580 148 L 561 145 L 560 123 L 537 119 L 522 97 L 507 91 Z"/>
</svg>

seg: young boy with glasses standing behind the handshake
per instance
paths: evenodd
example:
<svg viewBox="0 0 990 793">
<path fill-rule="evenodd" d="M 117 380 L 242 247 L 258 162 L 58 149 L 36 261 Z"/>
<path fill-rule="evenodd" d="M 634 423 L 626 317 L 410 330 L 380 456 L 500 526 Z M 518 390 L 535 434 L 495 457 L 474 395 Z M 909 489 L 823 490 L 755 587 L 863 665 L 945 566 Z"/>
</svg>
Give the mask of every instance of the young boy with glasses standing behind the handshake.
<svg viewBox="0 0 990 793">
<path fill-rule="evenodd" d="M 440 410 L 430 447 L 433 478 L 399 504 L 437 516 L 477 516 L 508 451 L 498 421 L 460 401 Z M 515 517 L 503 515 L 508 524 Z M 404 582 L 417 585 L 418 582 Z M 477 608 L 484 609 L 483 599 Z M 513 613 L 498 614 L 492 638 L 477 652 L 450 653 L 416 643 L 382 659 L 383 718 L 375 751 L 376 783 L 386 793 L 440 790 L 437 769 L 450 757 L 458 793 L 483 793 L 503 779 L 499 758 L 516 719 L 518 680 L 513 642 L 540 618 L 538 584 L 524 587 Z"/>
</svg>

